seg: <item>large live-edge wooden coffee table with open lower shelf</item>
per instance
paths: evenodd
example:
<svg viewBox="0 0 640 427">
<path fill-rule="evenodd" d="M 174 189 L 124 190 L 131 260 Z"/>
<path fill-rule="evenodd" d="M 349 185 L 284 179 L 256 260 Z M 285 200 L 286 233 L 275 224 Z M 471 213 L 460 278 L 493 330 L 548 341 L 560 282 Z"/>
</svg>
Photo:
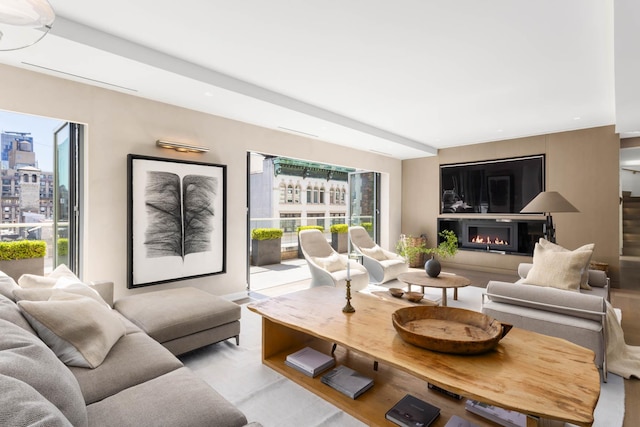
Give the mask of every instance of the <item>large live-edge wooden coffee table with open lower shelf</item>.
<svg viewBox="0 0 640 427">
<path fill-rule="evenodd" d="M 454 414 L 481 427 L 495 425 L 465 411 L 465 400 L 428 389 L 427 382 L 527 414 L 528 427 L 547 425 L 541 419 L 593 424 L 600 373 L 591 350 L 513 328 L 488 353 L 437 353 L 398 336 L 391 314 L 406 305 L 360 292 L 352 293 L 354 313 L 343 313 L 344 304 L 345 290 L 328 286 L 250 304 L 249 310 L 262 316 L 263 363 L 369 426 L 392 427 L 385 412 L 407 393 L 441 408 L 434 427 L 443 427 Z M 320 376 L 285 364 L 288 354 L 305 346 L 329 354 L 334 344 L 337 364 L 374 379 L 373 388 L 355 400 L 323 384 Z"/>
</svg>

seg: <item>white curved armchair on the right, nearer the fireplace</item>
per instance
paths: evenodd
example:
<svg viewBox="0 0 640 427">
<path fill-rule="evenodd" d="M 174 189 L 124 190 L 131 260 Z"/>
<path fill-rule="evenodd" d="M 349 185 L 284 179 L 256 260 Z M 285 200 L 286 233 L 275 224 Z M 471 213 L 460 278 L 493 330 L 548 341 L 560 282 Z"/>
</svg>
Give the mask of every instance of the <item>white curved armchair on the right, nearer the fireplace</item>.
<svg viewBox="0 0 640 427">
<path fill-rule="evenodd" d="M 349 228 L 349 239 L 355 250 L 362 255 L 362 264 L 373 283 L 388 282 L 409 269 L 409 264 L 403 257 L 382 249 L 363 227 Z"/>
</svg>

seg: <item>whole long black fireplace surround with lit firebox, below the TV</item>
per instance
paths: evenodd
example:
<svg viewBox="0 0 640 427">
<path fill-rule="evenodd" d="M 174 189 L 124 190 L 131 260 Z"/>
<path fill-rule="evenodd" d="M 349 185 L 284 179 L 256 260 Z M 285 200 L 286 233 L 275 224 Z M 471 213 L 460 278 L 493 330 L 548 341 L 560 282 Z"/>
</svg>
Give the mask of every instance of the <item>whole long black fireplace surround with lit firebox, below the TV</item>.
<svg viewBox="0 0 640 427">
<path fill-rule="evenodd" d="M 544 237 L 544 224 L 544 220 L 440 218 L 438 231 L 456 233 L 460 250 L 531 256 Z"/>
</svg>

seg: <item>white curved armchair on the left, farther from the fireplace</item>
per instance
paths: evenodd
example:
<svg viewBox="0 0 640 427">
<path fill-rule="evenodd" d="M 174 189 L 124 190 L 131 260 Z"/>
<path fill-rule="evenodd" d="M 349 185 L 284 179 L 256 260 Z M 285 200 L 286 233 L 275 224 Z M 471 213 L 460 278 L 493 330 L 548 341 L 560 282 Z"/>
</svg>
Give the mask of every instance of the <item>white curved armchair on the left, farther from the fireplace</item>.
<svg viewBox="0 0 640 427">
<path fill-rule="evenodd" d="M 347 262 L 351 276 L 351 290 L 359 291 L 369 284 L 367 269 L 354 260 L 336 252 L 320 230 L 301 230 L 300 249 L 311 272 L 311 287 L 346 287 Z"/>
</svg>

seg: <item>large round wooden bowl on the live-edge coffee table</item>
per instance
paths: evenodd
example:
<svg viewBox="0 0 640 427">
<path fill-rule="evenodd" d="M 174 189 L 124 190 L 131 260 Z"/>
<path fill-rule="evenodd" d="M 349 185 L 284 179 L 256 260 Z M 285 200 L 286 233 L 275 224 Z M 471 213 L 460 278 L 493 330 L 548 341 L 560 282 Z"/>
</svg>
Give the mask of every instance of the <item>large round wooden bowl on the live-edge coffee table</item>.
<svg viewBox="0 0 640 427">
<path fill-rule="evenodd" d="M 393 312 L 391 319 L 405 342 L 452 354 L 492 350 L 512 327 L 477 311 L 455 307 L 405 307 Z"/>
</svg>

